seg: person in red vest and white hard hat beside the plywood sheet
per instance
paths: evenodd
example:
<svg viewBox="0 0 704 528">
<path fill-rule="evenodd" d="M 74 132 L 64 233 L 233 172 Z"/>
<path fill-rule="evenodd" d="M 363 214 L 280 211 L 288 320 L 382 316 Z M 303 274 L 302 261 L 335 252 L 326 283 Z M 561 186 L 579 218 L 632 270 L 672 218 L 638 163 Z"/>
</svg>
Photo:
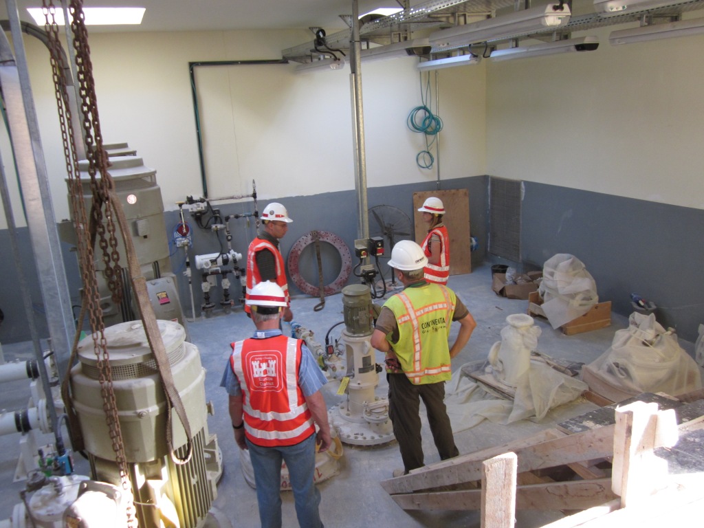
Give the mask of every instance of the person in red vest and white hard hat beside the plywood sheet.
<svg viewBox="0 0 704 528">
<path fill-rule="evenodd" d="M 418 210 L 423 215 L 423 222 L 428 225 L 428 234 L 421 245 L 428 258 L 425 279 L 428 282 L 447 284 L 450 277 L 450 235 L 442 222 L 445 207 L 441 199 L 431 196 Z"/>
</svg>

